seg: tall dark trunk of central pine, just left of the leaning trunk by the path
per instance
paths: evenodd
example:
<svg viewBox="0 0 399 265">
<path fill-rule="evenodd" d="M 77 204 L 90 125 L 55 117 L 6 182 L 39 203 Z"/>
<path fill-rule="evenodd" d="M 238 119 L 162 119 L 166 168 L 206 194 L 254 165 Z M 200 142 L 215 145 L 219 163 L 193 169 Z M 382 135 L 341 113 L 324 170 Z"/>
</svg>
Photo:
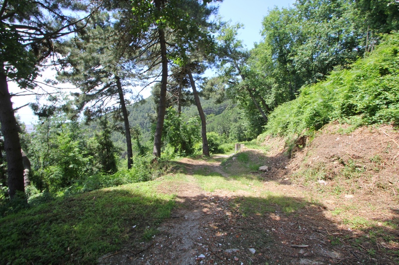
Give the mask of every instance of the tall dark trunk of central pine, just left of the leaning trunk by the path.
<svg viewBox="0 0 399 265">
<path fill-rule="evenodd" d="M 157 5 L 158 1 L 155 1 Z M 163 29 L 159 29 L 159 42 L 161 46 L 161 60 L 162 60 L 162 79 L 161 79 L 161 91 L 159 95 L 158 103 L 158 117 L 157 127 L 155 128 L 154 134 L 154 150 L 153 155 L 155 157 L 161 157 L 161 145 L 162 145 L 162 130 L 164 127 L 165 111 L 166 111 L 166 88 L 168 82 L 168 58 L 166 57 L 166 41 L 165 32 Z"/>
</svg>

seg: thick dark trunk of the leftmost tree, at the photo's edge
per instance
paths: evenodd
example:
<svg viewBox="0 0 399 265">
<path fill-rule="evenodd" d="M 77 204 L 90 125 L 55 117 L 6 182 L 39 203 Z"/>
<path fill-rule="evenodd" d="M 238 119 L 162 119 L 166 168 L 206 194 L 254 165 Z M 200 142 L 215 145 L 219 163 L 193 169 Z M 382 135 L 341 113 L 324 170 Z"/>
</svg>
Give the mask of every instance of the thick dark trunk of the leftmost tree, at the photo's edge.
<svg viewBox="0 0 399 265">
<path fill-rule="evenodd" d="M 0 123 L 7 158 L 8 194 L 12 199 L 16 191 L 25 192 L 25 187 L 18 127 L 8 92 L 7 77 L 2 73 L 0 73 Z"/>
</svg>

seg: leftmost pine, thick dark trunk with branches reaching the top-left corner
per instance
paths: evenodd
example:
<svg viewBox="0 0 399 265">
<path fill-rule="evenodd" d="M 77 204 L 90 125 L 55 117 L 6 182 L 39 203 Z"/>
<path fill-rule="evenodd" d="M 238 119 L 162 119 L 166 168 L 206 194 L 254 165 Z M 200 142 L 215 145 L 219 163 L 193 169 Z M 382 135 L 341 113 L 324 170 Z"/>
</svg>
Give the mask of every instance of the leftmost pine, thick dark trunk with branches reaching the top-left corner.
<svg viewBox="0 0 399 265">
<path fill-rule="evenodd" d="M 70 10 L 96 8 L 90 2 L 63 0 L 2 0 L 0 5 L 0 123 L 7 158 L 8 193 L 24 192 L 20 139 L 13 115 L 8 80 L 33 88 L 38 65 L 53 51 L 53 40 L 84 26 L 86 18 Z M 94 10 L 92 9 L 92 10 Z"/>
</svg>

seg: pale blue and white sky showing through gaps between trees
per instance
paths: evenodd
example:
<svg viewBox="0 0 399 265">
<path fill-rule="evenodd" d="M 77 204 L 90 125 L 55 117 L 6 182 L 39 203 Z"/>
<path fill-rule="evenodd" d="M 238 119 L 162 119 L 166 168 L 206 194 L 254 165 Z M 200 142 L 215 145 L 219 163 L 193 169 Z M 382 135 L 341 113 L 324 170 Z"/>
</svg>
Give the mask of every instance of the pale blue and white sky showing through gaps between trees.
<svg viewBox="0 0 399 265">
<path fill-rule="evenodd" d="M 219 15 L 223 17 L 223 20 L 231 20 L 232 23 L 244 24 L 244 28 L 240 29 L 238 38 L 243 40 L 244 45 L 248 49 L 253 48 L 254 42 L 260 42 L 262 20 L 267 15 L 268 10 L 273 9 L 275 6 L 278 8 L 292 6 L 295 0 L 223 0 L 219 3 Z M 46 72 L 43 73 L 43 78 L 46 79 L 46 75 L 54 75 L 54 73 Z M 65 87 L 62 86 L 61 87 Z M 15 84 L 8 84 L 10 92 L 16 93 L 20 89 Z M 143 94 L 147 97 L 150 94 L 149 91 Z M 17 108 L 29 102 L 35 101 L 35 96 L 17 96 L 12 98 L 13 107 Z M 16 111 L 19 119 L 25 124 L 34 124 L 37 122 L 37 118 L 33 114 L 29 106 L 25 106 Z"/>
</svg>

